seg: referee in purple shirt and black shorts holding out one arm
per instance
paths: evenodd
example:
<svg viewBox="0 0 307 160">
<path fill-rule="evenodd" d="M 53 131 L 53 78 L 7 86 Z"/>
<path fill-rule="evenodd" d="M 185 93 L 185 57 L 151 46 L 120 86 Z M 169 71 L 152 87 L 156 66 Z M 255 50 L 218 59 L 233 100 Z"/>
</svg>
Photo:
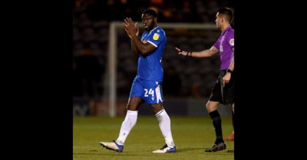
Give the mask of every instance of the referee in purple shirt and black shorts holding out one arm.
<svg viewBox="0 0 307 160">
<path fill-rule="evenodd" d="M 189 57 L 212 57 L 214 54 L 220 52 L 221 73 L 212 89 L 209 101 L 206 104 L 206 108 L 215 129 L 216 140 L 210 148 L 205 149 L 205 152 L 216 152 L 226 149 L 226 144 L 222 136 L 220 114 L 216 110 L 217 106 L 220 103 L 224 105 L 231 105 L 234 113 L 235 38 L 234 30 L 230 26 L 233 17 L 232 15 L 232 11 L 229 8 L 222 8 L 216 14 L 216 27 L 221 29 L 222 34 L 210 49 L 200 52 L 187 52 L 176 47 L 176 50 L 179 51 L 178 54 Z"/>
</svg>

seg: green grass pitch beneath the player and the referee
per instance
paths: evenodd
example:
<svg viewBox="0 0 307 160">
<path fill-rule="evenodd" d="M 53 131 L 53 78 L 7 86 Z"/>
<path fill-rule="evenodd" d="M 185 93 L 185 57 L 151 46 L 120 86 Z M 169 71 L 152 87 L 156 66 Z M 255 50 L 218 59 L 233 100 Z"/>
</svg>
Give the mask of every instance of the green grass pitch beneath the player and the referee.
<svg viewBox="0 0 307 160">
<path fill-rule="evenodd" d="M 155 116 L 138 116 L 138 121 L 125 141 L 124 151 L 117 153 L 100 146 L 99 142 L 116 140 L 124 117 L 74 117 L 73 159 L 234 159 L 233 141 L 226 141 L 226 150 L 204 152 L 215 140 L 212 122 L 208 117 L 170 117 L 176 153 L 154 154 L 165 140 Z M 223 137 L 232 132 L 231 118 L 222 118 Z"/>
</svg>

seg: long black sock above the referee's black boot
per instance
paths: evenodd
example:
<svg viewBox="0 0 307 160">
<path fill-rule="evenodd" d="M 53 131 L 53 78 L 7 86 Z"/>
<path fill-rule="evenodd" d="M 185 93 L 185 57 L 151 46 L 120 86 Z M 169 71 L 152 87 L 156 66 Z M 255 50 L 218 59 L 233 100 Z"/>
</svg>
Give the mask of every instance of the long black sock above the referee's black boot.
<svg viewBox="0 0 307 160">
<path fill-rule="evenodd" d="M 223 136 L 222 136 L 222 120 L 220 117 L 220 113 L 217 110 L 215 110 L 213 112 L 210 112 L 209 115 L 212 119 L 212 123 L 215 129 L 215 134 L 216 134 L 215 144 L 224 142 Z"/>
</svg>

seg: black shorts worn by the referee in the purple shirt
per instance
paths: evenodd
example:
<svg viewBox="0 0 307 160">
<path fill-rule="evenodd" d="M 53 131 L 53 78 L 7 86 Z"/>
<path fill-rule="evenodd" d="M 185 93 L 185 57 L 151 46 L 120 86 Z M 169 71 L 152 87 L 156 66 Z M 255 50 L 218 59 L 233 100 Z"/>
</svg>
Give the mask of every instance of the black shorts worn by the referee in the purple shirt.
<svg viewBox="0 0 307 160">
<path fill-rule="evenodd" d="M 224 105 L 235 102 L 235 72 L 231 73 L 229 83 L 225 83 L 225 87 L 223 87 L 223 77 L 225 74 L 226 70 L 221 70 L 219 78 L 212 89 L 209 101 L 220 102 Z"/>
</svg>

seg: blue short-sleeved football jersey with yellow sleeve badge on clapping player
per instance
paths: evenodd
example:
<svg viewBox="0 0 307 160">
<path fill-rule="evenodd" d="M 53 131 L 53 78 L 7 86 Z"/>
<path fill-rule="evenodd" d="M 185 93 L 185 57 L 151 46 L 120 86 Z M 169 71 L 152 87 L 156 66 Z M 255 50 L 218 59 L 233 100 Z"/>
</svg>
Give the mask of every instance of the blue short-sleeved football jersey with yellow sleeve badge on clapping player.
<svg viewBox="0 0 307 160">
<path fill-rule="evenodd" d="M 138 57 L 138 74 L 135 78 L 152 81 L 163 81 L 163 67 L 161 60 L 166 43 L 166 35 L 162 28 L 156 27 L 150 32 L 145 31 L 142 35 L 143 43 L 150 43 L 156 49 L 146 55 Z"/>
</svg>

